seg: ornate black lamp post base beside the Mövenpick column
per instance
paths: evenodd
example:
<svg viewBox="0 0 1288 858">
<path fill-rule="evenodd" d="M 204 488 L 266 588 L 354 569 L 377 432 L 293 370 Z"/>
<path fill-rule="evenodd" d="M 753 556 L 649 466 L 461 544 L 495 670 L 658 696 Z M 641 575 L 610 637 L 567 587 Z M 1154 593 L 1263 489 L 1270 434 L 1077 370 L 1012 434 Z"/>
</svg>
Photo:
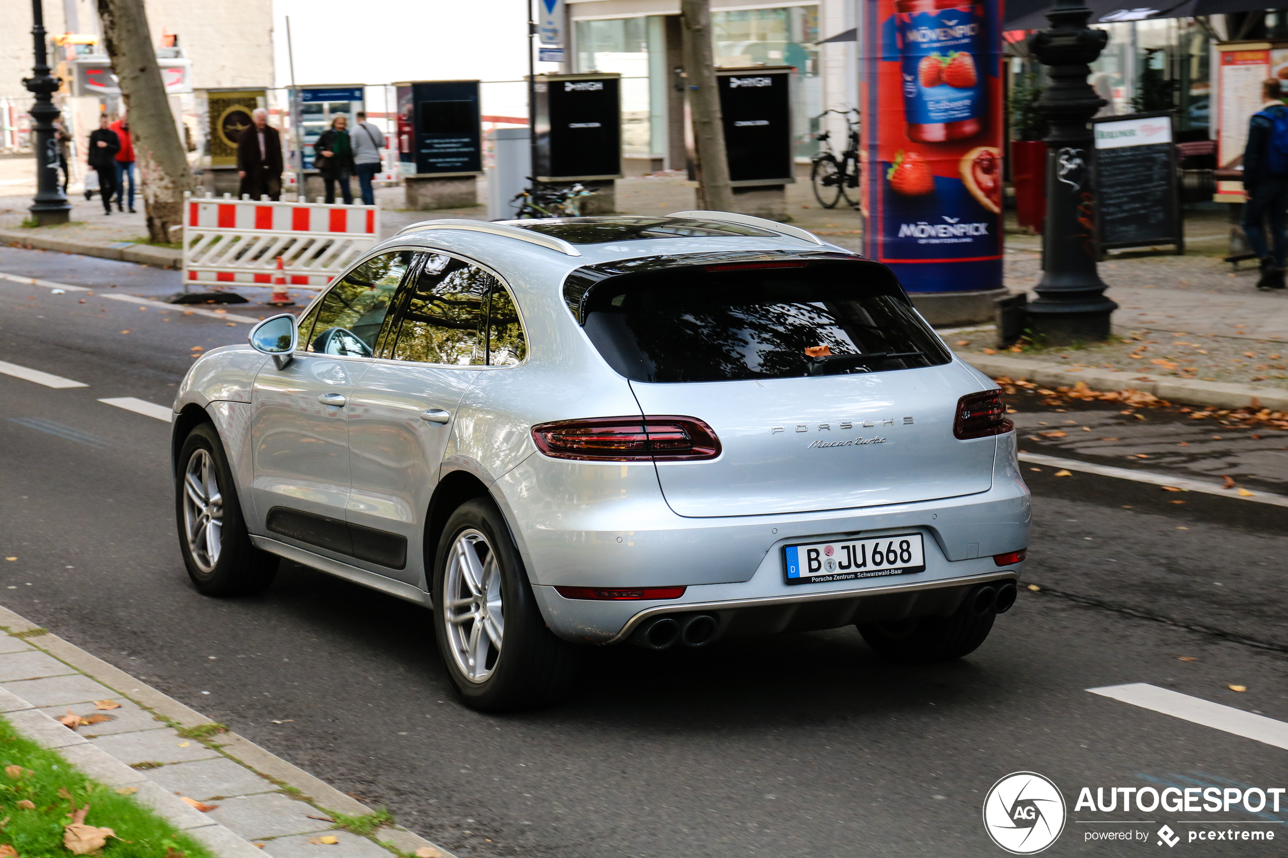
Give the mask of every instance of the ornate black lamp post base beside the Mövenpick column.
<svg viewBox="0 0 1288 858">
<path fill-rule="evenodd" d="M 1090 120 L 1105 100 L 1087 82 L 1109 33 L 1087 27 L 1091 10 L 1079 0 L 1056 0 L 1047 13 L 1051 27 L 1036 32 L 1029 48 L 1047 67 L 1051 85 L 1038 111 L 1050 122 L 1047 144 L 1047 216 L 1042 230 L 1042 282 L 1028 305 L 1029 323 L 1052 346 L 1109 338 L 1109 315 L 1118 305 L 1096 273 L 1096 199 L 1088 158 Z"/>
</svg>

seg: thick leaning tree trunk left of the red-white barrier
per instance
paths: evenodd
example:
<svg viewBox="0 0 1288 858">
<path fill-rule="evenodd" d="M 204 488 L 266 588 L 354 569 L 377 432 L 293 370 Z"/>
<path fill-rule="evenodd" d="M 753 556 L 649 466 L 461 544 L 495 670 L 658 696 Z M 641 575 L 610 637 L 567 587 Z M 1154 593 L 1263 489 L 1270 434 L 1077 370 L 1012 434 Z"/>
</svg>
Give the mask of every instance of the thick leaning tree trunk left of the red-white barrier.
<svg viewBox="0 0 1288 858">
<path fill-rule="evenodd" d="M 192 190 L 192 171 L 161 82 L 143 0 L 98 0 L 98 15 L 130 117 L 148 237 L 170 242 L 170 228 L 183 224 L 183 192 Z"/>
</svg>

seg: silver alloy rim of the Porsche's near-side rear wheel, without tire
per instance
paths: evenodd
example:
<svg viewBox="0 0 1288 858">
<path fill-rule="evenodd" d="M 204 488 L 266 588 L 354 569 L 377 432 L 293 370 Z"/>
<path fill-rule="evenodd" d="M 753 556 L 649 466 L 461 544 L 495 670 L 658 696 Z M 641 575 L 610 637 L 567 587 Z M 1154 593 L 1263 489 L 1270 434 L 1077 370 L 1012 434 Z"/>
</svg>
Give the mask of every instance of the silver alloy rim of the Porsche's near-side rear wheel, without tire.
<svg viewBox="0 0 1288 858">
<path fill-rule="evenodd" d="M 478 530 L 462 530 L 448 553 L 442 610 L 456 666 L 470 682 L 484 682 L 501 657 L 505 617 L 501 567 Z"/>
</svg>

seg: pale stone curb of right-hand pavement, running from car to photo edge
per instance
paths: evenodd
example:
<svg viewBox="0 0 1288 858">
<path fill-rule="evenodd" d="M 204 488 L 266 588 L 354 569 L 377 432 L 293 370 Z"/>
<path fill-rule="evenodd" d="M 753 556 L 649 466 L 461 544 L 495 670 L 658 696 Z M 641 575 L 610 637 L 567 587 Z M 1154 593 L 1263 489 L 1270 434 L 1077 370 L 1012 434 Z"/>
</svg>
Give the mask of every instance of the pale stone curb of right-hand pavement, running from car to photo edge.
<svg viewBox="0 0 1288 858">
<path fill-rule="evenodd" d="M 1188 405 L 1213 405 L 1216 408 L 1261 408 L 1288 410 L 1288 390 L 1280 387 L 1261 387 L 1257 385 L 1231 385 L 1227 382 L 1199 381 L 1197 378 L 1176 378 L 1172 376 L 1150 376 L 1149 373 L 1109 372 L 1108 369 L 1069 367 L 1043 360 L 1023 358 L 1003 358 L 1002 355 L 979 355 L 957 352 L 957 356 L 975 369 L 997 378 L 1009 376 L 1055 387 L 1057 385 L 1077 385 L 1086 382 L 1092 390 L 1122 390 L 1133 387 L 1153 394 L 1170 403 Z M 1253 401 L 1256 400 L 1256 403 Z"/>
</svg>

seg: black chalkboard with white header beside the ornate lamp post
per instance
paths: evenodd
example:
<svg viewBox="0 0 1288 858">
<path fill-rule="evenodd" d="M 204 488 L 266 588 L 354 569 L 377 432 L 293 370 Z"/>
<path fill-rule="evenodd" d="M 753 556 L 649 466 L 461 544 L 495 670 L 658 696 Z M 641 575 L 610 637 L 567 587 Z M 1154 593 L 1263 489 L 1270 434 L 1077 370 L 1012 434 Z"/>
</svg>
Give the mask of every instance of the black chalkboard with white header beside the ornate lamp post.
<svg viewBox="0 0 1288 858">
<path fill-rule="evenodd" d="M 1092 120 L 1092 129 L 1101 259 L 1110 247 L 1175 244 L 1185 253 L 1172 112 L 1106 116 Z"/>
</svg>

